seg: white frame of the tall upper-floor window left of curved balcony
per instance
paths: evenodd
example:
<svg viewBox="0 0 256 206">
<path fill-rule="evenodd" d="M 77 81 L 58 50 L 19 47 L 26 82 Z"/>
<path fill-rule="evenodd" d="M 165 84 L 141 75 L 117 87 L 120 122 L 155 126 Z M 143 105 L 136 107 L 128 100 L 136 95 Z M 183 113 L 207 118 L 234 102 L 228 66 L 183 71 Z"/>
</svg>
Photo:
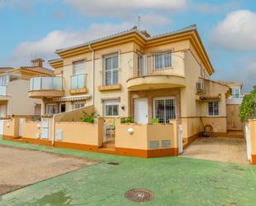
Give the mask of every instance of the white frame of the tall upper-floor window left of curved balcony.
<svg viewBox="0 0 256 206">
<path fill-rule="evenodd" d="M 120 70 L 119 70 L 119 64 L 120 64 L 120 54 L 119 54 L 119 52 L 114 52 L 114 53 L 112 53 L 112 54 L 109 54 L 109 55 L 103 55 L 103 62 L 104 62 L 104 64 L 103 64 L 103 67 L 104 67 L 104 86 L 109 86 L 109 85 L 116 85 L 116 84 L 119 84 L 119 73 L 120 73 Z M 106 64 L 106 60 L 107 59 L 110 59 L 110 58 L 117 58 L 117 67 L 116 68 L 110 68 L 110 69 L 106 69 L 106 67 L 107 67 L 107 64 Z M 111 79 L 110 79 L 110 84 L 107 84 L 107 72 L 109 72 L 111 75 L 110 75 L 110 77 L 111 77 Z M 118 75 L 117 75 L 117 82 L 116 83 L 114 83 L 114 72 L 118 72 Z"/>
</svg>

